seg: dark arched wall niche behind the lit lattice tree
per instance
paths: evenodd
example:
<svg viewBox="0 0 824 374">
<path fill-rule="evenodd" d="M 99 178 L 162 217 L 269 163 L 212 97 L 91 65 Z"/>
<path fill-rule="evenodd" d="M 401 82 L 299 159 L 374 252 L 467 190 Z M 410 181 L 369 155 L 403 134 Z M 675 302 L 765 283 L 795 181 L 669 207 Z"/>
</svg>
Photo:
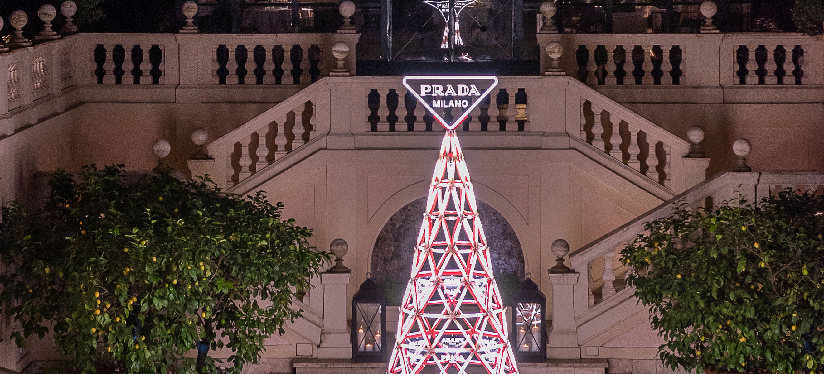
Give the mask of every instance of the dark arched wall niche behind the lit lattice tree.
<svg viewBox="0 0 824 374">
<path fill-rule="evenodd" d="M 369 271 L 391 306 L 400 305 L 400 298 L 409 281 L 414 245 L 418 241 L 425 205 L 426 198 L 421 198 L 398 209 L 383 225 L 372 246 Z M 478 213 L 492 255 L 495 280 L 503 301 L 508 302 L 524 277 L 521 242 L 506 218 L 489 204 L 479 200 Z"/>
</svg>

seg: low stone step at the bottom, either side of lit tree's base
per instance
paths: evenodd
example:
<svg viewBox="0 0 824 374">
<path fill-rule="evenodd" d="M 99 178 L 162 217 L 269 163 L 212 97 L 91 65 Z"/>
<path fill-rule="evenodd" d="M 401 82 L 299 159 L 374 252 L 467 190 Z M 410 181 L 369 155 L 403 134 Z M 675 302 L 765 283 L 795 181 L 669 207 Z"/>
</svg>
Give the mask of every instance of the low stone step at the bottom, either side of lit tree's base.
<svg viewBox="0 0 824 374">
<path fill-rule="evenodd" d="M 386 374 L 386 365 L 386 362 L 352 362 L 348 358 L 295 358 L 292 363 L 296 374 Z M 605 358 L 550 359 L 519 362 L 517 366 L 522 374 L 605 374 L 607 362 Z"/>
</svg>

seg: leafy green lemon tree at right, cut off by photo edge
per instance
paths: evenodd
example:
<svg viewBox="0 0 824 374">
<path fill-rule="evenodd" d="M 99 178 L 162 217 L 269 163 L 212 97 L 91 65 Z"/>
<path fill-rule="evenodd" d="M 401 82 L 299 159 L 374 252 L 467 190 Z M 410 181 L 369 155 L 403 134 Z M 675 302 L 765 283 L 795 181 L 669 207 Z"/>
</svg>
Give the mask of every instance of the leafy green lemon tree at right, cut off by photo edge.
<svg viewBox="0 0 824 374">
<path fill-rule="evenodd" d="M 778 198 L 688 209 L 648 222 L 622 251 L 628 282 L 687 371 L 821 372 L 824 200 Z"/>
</svg>

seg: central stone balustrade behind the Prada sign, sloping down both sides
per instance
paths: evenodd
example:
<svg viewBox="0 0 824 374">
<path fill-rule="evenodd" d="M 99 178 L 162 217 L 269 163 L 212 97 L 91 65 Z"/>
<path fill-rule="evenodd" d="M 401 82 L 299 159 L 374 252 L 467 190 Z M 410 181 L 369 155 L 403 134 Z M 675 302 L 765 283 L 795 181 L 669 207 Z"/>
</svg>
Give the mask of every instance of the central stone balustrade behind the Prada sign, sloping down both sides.
<svg viewBox="0 0 824 374">
<path fill-rule="evenodd" d="M 442 131 L 402 87 L 400 77 L 324 78 L 209 144 L 210 174 L 227 187 L 238 185 L 326 133 L 348 133 L 358 142 L 348 147 L 419 147 L 382 136 Z M 340 96 L 349 100 L 331 99 Z M 545 105 L 550 102 L 568 105 Z M 490 147 L 574 147 L 662 191 L 704 180 L 706 162 L 684 161 L 689 143 L 569 77 L 500 77 L 479 106 L 458 129 L 510 135 L 490 138 Z M 547 133 L 569 140 L 542 143 L 549 142 Z M 371 135 L 380 140 L 370 141 Z"/>
</svg>

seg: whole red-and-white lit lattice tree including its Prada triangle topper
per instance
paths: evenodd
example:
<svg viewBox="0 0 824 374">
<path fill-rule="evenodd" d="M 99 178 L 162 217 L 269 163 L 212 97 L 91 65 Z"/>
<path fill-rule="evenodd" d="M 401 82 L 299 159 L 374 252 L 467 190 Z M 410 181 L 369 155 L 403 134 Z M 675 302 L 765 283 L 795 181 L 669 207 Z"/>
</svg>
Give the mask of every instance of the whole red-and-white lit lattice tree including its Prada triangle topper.
<svg viewBox="0 0 824 374">
<path fill-rule="evenodd" d="M 503 301 L 455 131 L 497 83 L 491 76 L 404 78 L 406 88 L 447 131 L 417 245 L 410 248 L 414 259 L 400 302 L 389 374 L 420 374 L 428 366 L 442 374 L 466 374 L 470 366 L 489 374 L 517 374 Z M 447 122 L 443 108 L 429 105 L 436 101 L 461 101 L 456 107 L 466 109 Z"/>
</svg>

